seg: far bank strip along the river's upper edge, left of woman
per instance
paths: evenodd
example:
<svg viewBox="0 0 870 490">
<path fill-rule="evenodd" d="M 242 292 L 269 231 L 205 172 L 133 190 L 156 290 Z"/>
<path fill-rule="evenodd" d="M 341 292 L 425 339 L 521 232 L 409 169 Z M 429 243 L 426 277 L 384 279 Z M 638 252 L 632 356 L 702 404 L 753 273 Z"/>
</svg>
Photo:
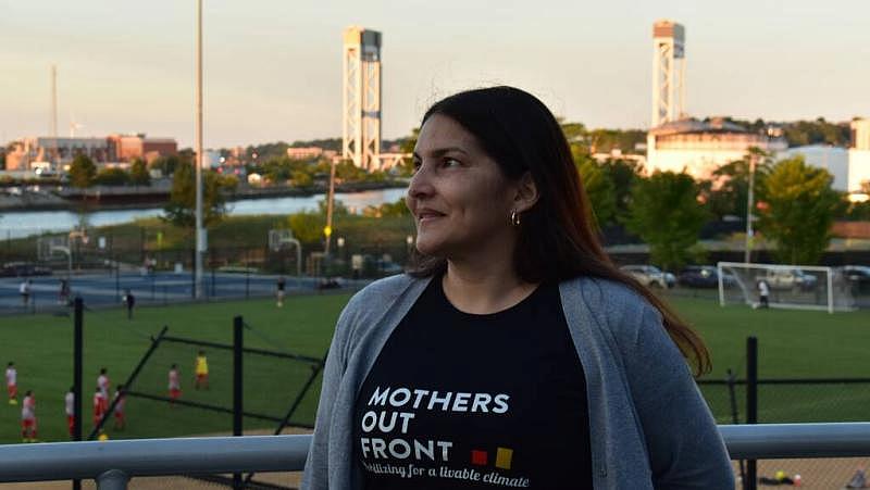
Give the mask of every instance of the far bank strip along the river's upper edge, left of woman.
<svg viewBox="0 0 870 490">
<path fill-rule="evenodd" d="M 383 183 L 350 183 L 335 186 L 335 193 L 353 193 L 370 190 L 397 189 L 407 187 L 405 181 Z M 135 190 L 134 190 L 135 189 Z M 0 197 L 0 213 L 42 212 L 42 211 L 71 211 L 78 212 L 83 204 L 89 212 L 96 211 L 128 211 L 161 209 L 169 202 L 169 190 L 157 188 L 147 192 L 149 188 L 111 188 L 112 193 L 103 193 L 103 189 L 87 189 L 84 193 L 74 194 L 66 190 L 67 197 L 57 193 L 26 192 L 22 196 Z M 127 190 L 128 192 L 123 192 Z M 145 192 L 142 192 L 145 190 Z M 312 186 L 306 189 L 290 187 L 248 187 L 238 189 L 227 196 L 227 203 L 275 198 L 306 198 L 328 192 L 328 186 Z M 84 198 L 84 201 L 80 200 Z"/>
</svg>

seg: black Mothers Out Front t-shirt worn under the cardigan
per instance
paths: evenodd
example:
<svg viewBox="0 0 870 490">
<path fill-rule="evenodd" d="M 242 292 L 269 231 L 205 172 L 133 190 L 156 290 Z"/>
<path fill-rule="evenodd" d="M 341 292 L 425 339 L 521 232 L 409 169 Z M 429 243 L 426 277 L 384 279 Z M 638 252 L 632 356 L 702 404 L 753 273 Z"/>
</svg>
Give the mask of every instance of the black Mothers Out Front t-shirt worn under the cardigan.
<svg viewBox="0 0 870 490">
<path fill-rule="evenodd" d="M 493 314 L 435 277 L 355 406 L 366 489 L 592 488 L 586 382 L 557 285 Z"/>
</svg>

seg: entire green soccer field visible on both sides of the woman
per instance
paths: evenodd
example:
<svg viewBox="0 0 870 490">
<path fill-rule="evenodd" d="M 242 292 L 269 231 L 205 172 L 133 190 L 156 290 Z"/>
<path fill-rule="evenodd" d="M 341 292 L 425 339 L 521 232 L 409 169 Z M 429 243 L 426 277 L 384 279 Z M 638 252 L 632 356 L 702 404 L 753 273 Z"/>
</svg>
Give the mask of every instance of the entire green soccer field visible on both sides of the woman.
<svg viewBox="0 0 870 490">
<path fill-rule="evenodd" d="M 212 342 L 232 342 L 232 323 L 243 315 L 251 327 L 245 344 L 250 348 L 289 351 L 321 357 L 332 337 L 335 321 L 348 296 L 289 298 L 283 309 L 270 300 L 145 307 L 127 321 L 122 310 L 85 314 L 85 434 L 91 428 L 91 394 L 100 367 L 107 367 L 113 387 L 123 382 L 150 345 L 148 336 L 163 325 L 169 334 Z M 744 377 L 745 339 L 759 339 L 759 376 L 765 377 L 868 377 L 870 312 L 757 311 L 744 306 L 721 309 L 703 299 L 674 298 L 672 303 L 704 336 L 713 356 L 713 370 L 706 378 L 723 379 L 728 368 Z M 66 440 L 63 395 L 72 385 L 72 318 L 26 315 L 0 318 L 0 363 L 15 361 L 20 400 L 33 389 L 37 399 L 39 439 Z M 164 342 L 153 354 L 134 389 L 166 395 L 166 375 L 177 363 L 185 400 L 232 406 L 232 356 L 228 351 L 206 348 L 211 386 L 194 390 L 194 359 L 198 348 Z M 245 410 L 281 417 L 311 373 L 303 364 L 253 354 L 245 356 Z M 314 418 L 320 378 L 294 422 Z M 91 387 L 88 389 L 88 387 Z M 705 387 L 705 397 L 720 423 L 731 422 L 724 387 Z M 744 394 L 738 389 L 741 416 Z M 0 443 L 16 442 L 21 405 L 0 403 Z M 824 386 L 762 386 L 759 393 L 761 422 L 866 420 L 870 419 L 870 384 Z M 127 428 L 107 425 L 111 438 L 176 437 L 228 432 L 232 416 L 164 402 L 130 398 Z M 276 424 L 246 417 L 246 428 L 273 428 Z"/>
</svg>

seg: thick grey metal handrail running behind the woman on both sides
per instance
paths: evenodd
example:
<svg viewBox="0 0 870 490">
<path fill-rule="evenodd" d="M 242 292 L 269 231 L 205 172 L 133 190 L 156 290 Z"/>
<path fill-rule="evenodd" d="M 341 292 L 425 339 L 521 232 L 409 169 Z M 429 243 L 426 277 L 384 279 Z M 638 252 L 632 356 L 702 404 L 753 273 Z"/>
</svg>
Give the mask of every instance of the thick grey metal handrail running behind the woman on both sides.
<svg viewBox="0 0 870 490">
<path fill-rule="evenodd" d="M 732 460 L 870 455 L 870 423 L 723 425 Z M 94 479 L 126 489 L 133 477 L 299 472 L 311 436 L 246 436 L 0 445 L 0 482 Z"/>
</svg>

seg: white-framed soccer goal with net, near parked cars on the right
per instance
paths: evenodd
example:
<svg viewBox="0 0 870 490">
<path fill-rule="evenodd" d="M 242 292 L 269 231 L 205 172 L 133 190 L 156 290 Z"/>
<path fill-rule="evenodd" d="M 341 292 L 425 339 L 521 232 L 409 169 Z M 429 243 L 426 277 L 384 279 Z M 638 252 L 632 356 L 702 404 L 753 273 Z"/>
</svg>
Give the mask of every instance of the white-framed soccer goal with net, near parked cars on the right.
<svg viewBox="0 0 870 490">
<path fill-rule="evenodd" d="M 822 310 L 829 313 L 855 309 L 846 277 L 833 267 L 815 265 L 720 262 L 719 303 L 761 304 L 765 282 L 770 307 Z"/>
</svg>

